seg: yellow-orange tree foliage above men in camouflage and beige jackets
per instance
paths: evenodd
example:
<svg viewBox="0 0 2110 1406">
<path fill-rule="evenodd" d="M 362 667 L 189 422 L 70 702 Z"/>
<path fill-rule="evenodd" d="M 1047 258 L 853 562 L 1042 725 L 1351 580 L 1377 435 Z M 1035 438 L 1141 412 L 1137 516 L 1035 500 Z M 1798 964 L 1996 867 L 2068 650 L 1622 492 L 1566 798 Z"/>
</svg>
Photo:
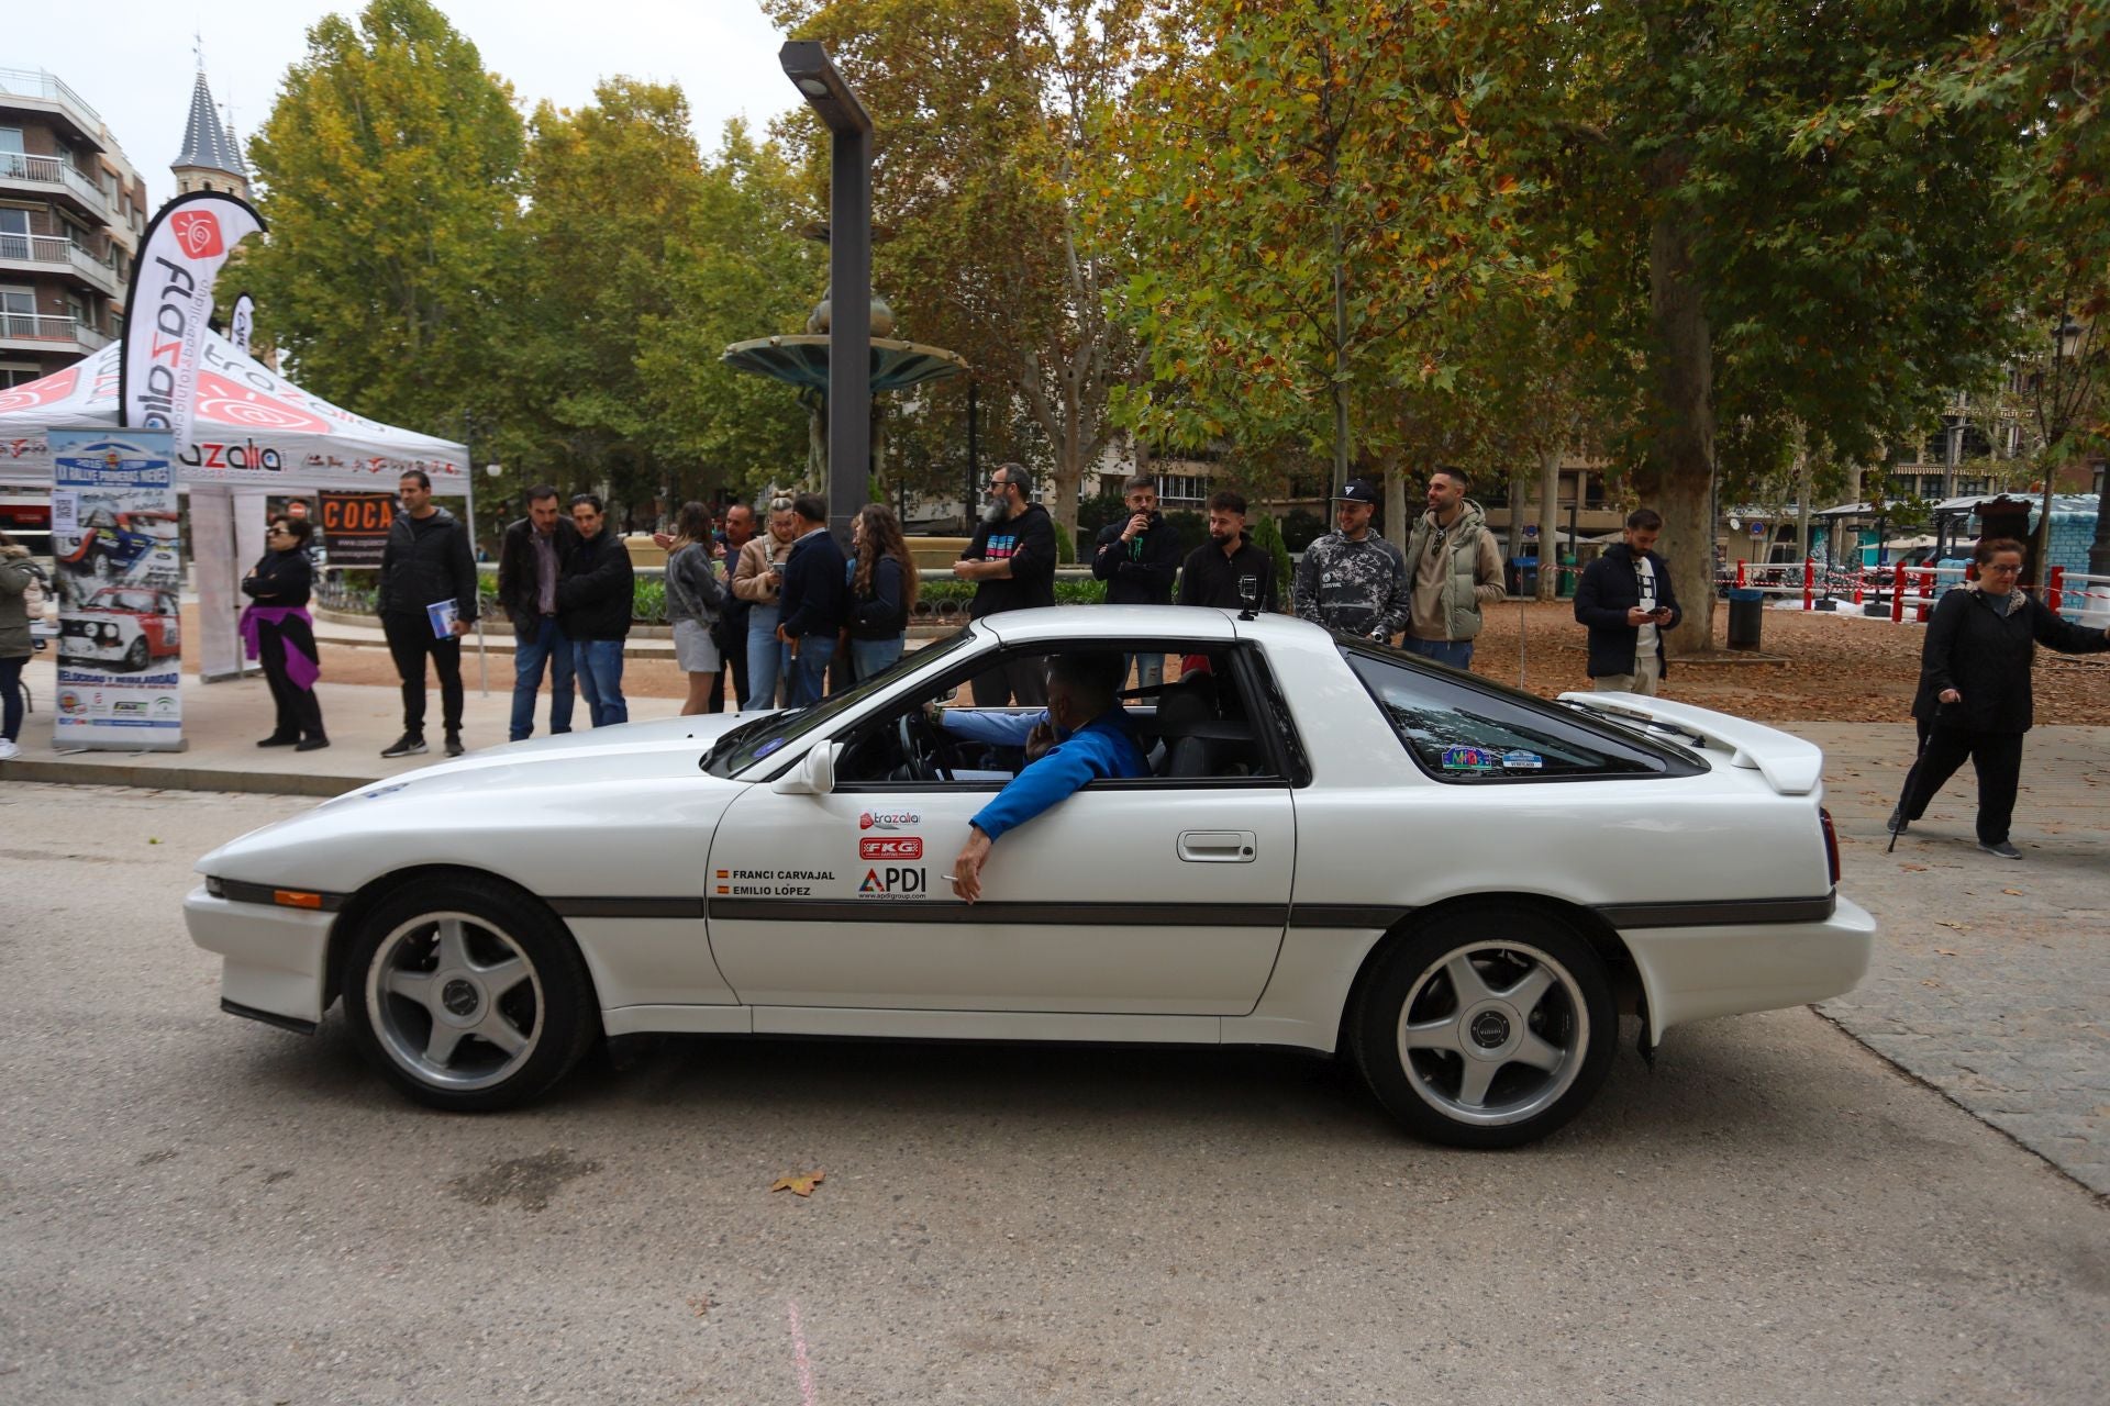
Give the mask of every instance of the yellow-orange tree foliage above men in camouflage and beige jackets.
<svg viewBox="0 0 2110 1406">
<path fill-rule="evenodd" d="M 1355 403 L 1447 390 L 1445 333 L 1490 291 L 1547 297 L 1530 190 L 1481 131 L 1494 74 L 1471 6 L 1196 0 L 1160 32 L 1101 238 L 1133 249 L 1123 312 L 1150 384 L 1123 417 L 1179 445 L 1397 455 Z M 1384 443 L 1393 438 L 1393 443 Z"/>
</svg>

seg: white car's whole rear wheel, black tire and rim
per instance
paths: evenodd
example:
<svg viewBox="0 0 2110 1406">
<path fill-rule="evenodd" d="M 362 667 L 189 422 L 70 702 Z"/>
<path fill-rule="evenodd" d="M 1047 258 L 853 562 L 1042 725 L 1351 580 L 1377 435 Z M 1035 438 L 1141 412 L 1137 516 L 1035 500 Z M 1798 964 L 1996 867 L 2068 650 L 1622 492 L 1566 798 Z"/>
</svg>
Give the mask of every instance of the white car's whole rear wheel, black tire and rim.
<svg viewBox="0 0 2110 1406">
<path fill-rule="evenodd" d="M 1597 1094 L 1618 1010 L 1604 961 L 1566 923 L 1519 904 L 1454 909 L 1380 953 L 1348 1046 L 1378 1102 L 1416 1136 L 1519 1147 Z"/>
</svg>

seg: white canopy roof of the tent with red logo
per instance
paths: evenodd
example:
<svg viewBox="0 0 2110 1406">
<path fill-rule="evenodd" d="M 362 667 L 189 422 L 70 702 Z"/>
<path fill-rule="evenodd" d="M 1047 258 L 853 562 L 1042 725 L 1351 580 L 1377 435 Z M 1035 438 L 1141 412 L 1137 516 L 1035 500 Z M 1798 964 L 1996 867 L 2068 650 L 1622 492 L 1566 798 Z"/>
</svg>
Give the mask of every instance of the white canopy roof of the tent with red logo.
<svg viewBox="0 0 2110 1406">
<path fill-rule="evenodd" d="M 118 428 L 118 352 L 93 356 L 40 382 L 0 390 L 0 483 L 51 483 L 44 430 Z M 253 491 L 395 489 L 422 468 L 435 493 L 462 493 L 468 451 L 310 396 L 219 333 L 205 333 L 192 445 L 184 487 L 217 483 Z"/>
</svg>

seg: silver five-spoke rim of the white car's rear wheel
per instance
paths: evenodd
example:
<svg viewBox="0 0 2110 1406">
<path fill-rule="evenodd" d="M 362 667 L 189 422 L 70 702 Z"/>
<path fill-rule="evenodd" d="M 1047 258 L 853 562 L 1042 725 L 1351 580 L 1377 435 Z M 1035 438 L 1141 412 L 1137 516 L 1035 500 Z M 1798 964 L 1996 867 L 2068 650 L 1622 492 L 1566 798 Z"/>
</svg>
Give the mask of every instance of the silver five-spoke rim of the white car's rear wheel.
<svg viewBox="0 0 2110 1406">
<path fill-rule="evenodd" d="M 1422 968 L 1399 1008 L 1399 1065 L 1452 1121 L 1502 1126 L 1551 1109 L 1589 1050 L 1582 987 L 1549 953 L 1464 942 Z"/>
</svg>

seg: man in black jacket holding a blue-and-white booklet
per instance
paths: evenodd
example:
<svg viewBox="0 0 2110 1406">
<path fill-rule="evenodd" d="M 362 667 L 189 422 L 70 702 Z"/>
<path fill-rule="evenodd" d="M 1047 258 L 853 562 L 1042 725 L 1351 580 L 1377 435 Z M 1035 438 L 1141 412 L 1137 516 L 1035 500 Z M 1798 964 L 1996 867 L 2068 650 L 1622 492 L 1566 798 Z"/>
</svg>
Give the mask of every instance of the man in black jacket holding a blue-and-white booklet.
<svg viewBox="0 0 2110 1406">
<path fill-rule="evenodd" d="M 380 618 L 403 679 L 403 736 L 382 757 L 424 750 L 424 662 L 439 675 L 447 755 L 462 755 L 462 634 L 477 620 L 477 559 L 454 514 L 433 504 L 422 468 L 397 485 L 403 512 L 382 548 Z"/>
</svg>

